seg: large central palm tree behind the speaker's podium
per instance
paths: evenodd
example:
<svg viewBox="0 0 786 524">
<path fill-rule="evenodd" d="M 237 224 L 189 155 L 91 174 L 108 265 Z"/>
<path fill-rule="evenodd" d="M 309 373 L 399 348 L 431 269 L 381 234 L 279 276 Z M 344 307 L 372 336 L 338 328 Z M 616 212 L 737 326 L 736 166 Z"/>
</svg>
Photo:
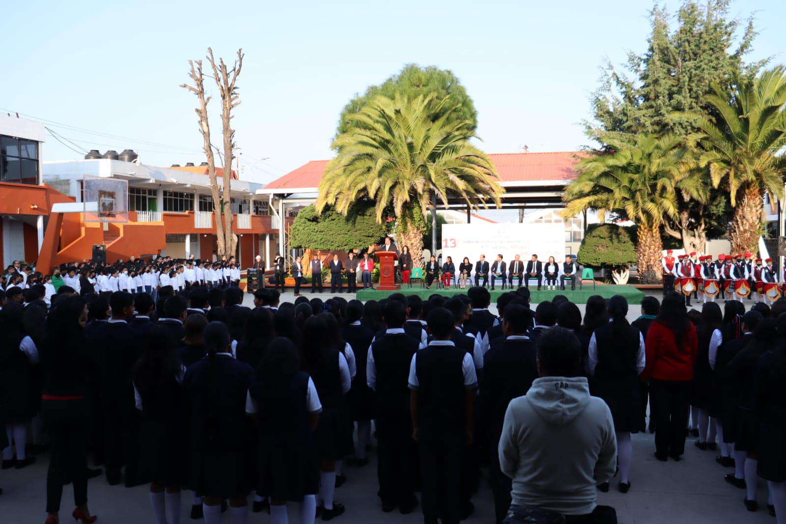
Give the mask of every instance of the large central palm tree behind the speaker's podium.
<svg viewBox="0 0 786 524">
<path fill-rule="evenodd" d="M 456 120 L 450 97 L 378 97 L 354 116 L 350 131 L 332 144 L 338 152 L 325 167 L 317 211 L 335 206 L 347 214 L 358 198 L 375 202 L 376 220 L 395 215 L 399 248 L 410 246 L 413 267 L 422 264 L 424 215 L 432 195 L 447 205 L 458 197 L 472 208 L 500 207 L 504 192 L 490 158 L 470 143 L 469 120 Z M 436 109 L 435 109 L 436 108 Z M 434 118 L 433 115 L 439 115 Z"/>
</svg>

